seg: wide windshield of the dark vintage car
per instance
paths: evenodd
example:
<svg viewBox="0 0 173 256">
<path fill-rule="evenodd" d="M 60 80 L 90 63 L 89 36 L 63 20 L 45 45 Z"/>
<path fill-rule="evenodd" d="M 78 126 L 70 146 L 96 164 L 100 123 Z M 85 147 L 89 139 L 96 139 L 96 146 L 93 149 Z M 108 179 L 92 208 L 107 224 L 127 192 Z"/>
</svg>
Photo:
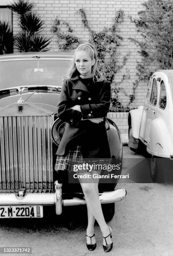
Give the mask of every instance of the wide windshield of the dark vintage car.
<svg viewBox="0 0 173 256">
<path fill-rule="evenodd" d="M 0 89 L 25 85 L 61 86 L 71 62 L 69 59 L 0 61 Z"/>
</svg>

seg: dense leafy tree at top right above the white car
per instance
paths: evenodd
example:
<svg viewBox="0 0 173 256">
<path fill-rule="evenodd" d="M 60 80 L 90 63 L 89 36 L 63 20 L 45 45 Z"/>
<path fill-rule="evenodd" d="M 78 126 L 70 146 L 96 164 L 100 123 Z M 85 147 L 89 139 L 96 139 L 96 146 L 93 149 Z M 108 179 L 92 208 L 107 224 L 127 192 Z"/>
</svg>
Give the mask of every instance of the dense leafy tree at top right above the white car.
<svg viewBox="0 0 173 256">
<path fill-rule="evenodd" d="M 140 47 L 141 60 L 137 61 L 138 79 L 148 81 L 157 69 L 173 69 L 173 4 L 172 0 L 148 0 L 144 10 L 138 12 L 139 18 L 130 20 L 135 24 L 141 39 L 129 38 Z"/>
</svg>

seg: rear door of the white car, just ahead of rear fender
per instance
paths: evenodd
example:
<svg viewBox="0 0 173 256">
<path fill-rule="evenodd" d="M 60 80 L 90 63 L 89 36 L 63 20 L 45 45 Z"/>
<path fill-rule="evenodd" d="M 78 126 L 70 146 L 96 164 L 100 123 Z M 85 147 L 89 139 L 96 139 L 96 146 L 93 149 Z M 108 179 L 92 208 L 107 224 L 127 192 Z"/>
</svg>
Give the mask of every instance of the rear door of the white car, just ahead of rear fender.
<svg viewBox="0 0 173 256">
<path fill-rule="evenodd" d="M 157 82 L 157 78 L 153 77 L 150 101 L 149 101 L 148 110 L 147 110 L 148 114 L 147 114 L 146 127 L 145 127 L 145 136 L 144 136 L 144 140 L 147 143 L 149 143 L 150 141 L 149 133 L 150 133 L 151 122 L 153 119 L 156 118 L 157 102 L 158 102 L 158 82 Z"/>
</svg>

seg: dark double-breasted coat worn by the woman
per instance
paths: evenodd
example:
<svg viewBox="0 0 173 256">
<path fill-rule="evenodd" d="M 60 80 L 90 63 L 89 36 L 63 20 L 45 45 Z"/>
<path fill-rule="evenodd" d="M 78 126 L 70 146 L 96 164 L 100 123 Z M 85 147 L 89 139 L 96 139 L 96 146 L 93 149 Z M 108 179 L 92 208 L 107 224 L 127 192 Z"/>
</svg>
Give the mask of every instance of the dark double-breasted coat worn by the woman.
<svg viewBox="0 0 173 256">
<path fill-rule="evenodd" d="M 57 155 L 65 154 L 70 146 L 80 144 L 84 158 L 109 158 L 110 148 L 105 116 L 110 107 L 110 82 L 93 82 L 92 90 L 87 84 L 73 77 L 62 86 L 58 104 L 58 117 L 66 122 L 63 138 L 60 141 Z M 80 105 L 81 112 L 71 107 Z M 92 123 L 89 118 L 104 117 L 101 123 Z"/>
</svg>

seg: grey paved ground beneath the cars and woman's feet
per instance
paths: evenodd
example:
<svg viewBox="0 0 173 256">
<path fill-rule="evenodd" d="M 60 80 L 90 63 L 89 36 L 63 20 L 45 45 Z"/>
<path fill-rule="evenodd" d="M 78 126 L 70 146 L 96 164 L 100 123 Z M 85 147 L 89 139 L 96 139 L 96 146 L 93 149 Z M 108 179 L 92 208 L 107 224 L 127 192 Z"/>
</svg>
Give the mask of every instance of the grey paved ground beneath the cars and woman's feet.
<svg viewBox="0 0 173 256">
<path fill-rule="evenodd" d="M 123 147 L 123 155 L 125 158 L 142 158 L 128 147 Z M 123 168 L 123 172 L 127 173 L 127 166 Z M 108 223 L 113 228 L 113 250 L 109 255 L 173 255 L 173 184 L 133 182 L 118 183 L 116 186 L 117 189 L 122 187 L 127 190 L 127 196 L 115 203 L 115 215 Z M 90 252 L 86 248 L 86 223 L 80 208 L 66 210 L 64 217 L 52 217 L 53 211 L 47 211 L 47 217 L 43 220 L 1 220 L 0 246 L 32 247 L 33 256 L 103 255 L 98 226 L 95 226 L 95 251 Z M 75 230 L 69 230 L 65 225 L 72 212 Z"/>
</svg>

